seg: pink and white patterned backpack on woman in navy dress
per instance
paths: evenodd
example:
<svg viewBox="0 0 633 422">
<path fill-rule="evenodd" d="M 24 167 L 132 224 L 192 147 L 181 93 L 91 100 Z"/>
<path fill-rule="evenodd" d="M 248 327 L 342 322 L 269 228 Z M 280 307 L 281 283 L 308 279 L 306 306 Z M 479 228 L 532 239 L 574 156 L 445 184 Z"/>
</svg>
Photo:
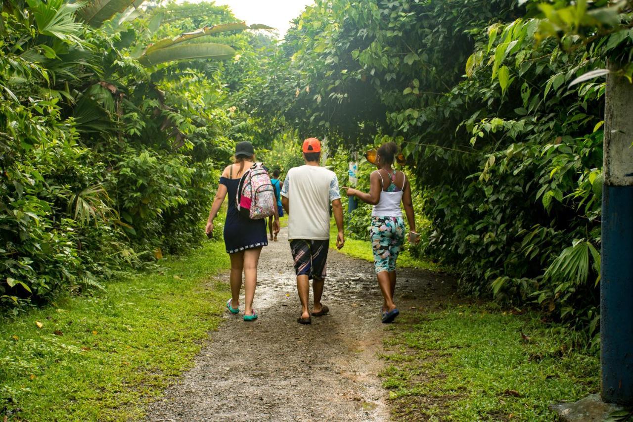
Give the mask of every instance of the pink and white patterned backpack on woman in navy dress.
<svg viewBox="0 0 633 422">
<path fill-rule="evenodd" d="M 239 182 L 235 198 L 237 211 L 253 220 L 275 215 L 275 188 L 262 163 L 254 163 Z"/>
</svg>

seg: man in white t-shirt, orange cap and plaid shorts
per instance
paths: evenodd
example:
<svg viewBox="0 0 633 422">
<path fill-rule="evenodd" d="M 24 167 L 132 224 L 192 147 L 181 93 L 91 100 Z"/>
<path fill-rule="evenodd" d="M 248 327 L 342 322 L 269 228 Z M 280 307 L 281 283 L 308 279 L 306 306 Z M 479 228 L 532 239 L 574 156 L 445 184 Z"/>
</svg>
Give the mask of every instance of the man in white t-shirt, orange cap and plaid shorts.
<svg viewBox="0 0 633 422">
<path fill-rule="evenodd" d="M 281 196 L 288 214 L 288 240 L 301 300 L 301 316 L 297 322 L 311 324 L 312 316 L 329 312 L 328 307 L 321 304 L 321 295 L 330 243 L 330 203 L 339 229 L 337 248 L 343 247 L 345 238 L 339 181 L 334 172 L 320 167 L 321 143 L 318 139 L 310 137 L 303 141 L 303 158 L 306 164 L 290 169 L 285 176 Z M 308 308 L 310 279 L 314 293 L 311 313 Z"/>
</svg>

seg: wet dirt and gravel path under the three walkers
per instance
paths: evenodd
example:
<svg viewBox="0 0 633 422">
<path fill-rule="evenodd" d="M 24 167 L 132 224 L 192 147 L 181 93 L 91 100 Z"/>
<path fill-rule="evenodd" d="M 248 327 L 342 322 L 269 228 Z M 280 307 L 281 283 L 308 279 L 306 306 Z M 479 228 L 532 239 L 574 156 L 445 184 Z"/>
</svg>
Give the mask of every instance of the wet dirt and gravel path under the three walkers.
<svg viewBox="0 0 633 422">
<path fill-rule="evenodd" d="M 330 314 L 301 326 L 285 229 L 279 238 L 260 259 L 254 302 L 260 318 L 245 323 L 227 313 L 194 368 L 151 404 L 148 421 L 389 419 L 378 379 L 386 333 L 373 265 L 330 250 L 322 300 Z M 402 271 L 396 304 L 411 312 L 452 288 L 436 274 Z"/>
</svg>

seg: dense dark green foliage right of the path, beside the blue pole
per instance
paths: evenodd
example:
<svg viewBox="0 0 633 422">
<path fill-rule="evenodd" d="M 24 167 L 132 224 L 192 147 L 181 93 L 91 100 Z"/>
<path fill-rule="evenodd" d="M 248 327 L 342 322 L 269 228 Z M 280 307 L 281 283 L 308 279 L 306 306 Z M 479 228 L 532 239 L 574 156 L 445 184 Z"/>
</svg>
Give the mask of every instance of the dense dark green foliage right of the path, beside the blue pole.
<svg viewBox="0 0 633 422">
<path fill-rule="evenodd" d="M 316 1 L 250 102 L 342 160 L 399 143 L 431 222 L 419 253 L 593 333 L 605 84 L 570 82 L 628 60 L 630 9 L 518 3 Z"/>
</svg>

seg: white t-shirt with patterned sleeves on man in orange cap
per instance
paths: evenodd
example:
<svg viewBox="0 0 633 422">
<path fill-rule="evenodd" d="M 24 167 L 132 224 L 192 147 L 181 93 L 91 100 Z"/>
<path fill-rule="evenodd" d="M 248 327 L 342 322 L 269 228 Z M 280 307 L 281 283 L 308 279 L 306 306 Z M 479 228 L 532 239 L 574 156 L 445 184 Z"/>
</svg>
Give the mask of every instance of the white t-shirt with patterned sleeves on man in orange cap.
<svg viewBox="0 0 633 422">
<path fill-rule="evenodd" d="M 334 172 L 316 165 L 288 170 L 281 195 L 288 198 L 288 239 L 330 238 L 330 202 L 341 198 Z"/>
</svg>

